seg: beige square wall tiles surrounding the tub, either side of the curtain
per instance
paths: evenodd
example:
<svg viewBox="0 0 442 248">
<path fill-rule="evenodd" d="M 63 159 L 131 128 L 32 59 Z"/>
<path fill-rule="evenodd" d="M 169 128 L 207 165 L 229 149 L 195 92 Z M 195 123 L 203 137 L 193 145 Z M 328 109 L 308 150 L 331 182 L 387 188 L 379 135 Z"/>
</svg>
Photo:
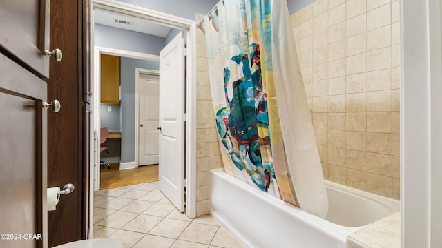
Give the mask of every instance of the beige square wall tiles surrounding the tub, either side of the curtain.
<svg viewBox="0 0 442 248">
<path fill-rule="evenodd" d="M 325 179 L 398 199 L 398 0 L 319 0 L 290 19 Z M 205 42 L 198 29 L 197 216 L 222 167 Z"/>
</svg>

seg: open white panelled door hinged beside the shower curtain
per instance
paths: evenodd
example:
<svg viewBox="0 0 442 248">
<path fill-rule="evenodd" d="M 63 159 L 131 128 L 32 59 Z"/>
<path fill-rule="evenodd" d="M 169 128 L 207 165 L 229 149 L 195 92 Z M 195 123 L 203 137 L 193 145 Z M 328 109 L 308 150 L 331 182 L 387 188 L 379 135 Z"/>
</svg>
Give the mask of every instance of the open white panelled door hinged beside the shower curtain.
<svg viewBox="0 0 442 248">
<path fill-rule="evenodd" d="M 184 211 L 184 37 L 160 52 L 160 190 Z"/>
</svg>

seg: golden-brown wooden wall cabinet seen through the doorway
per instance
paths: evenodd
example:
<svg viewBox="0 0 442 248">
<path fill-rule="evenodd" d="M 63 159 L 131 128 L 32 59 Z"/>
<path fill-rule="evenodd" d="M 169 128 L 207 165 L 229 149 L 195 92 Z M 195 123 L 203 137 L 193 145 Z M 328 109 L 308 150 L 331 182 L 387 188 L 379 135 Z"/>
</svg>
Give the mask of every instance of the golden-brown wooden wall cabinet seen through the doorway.
<svg viewBox="0 0 442 248">
<path fill-rule="evenodd" d="M 101 63 L 101 103 L 119 104 L 119 56 L 102 54 Z"/>
</svg>

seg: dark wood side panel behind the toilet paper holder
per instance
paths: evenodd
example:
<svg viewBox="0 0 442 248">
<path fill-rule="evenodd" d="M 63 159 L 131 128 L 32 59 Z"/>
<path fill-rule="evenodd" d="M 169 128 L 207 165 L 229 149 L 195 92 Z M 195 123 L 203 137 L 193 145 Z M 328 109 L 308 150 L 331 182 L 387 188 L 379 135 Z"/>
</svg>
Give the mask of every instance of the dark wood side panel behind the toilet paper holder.
<svg viewBox="0 0 442 248">
<path fill-rule="evenodd" d="M 88 1 L 50 1 L 50 47 L 63 59 L 50 61 L 48 99 L 61 110 L 48 113 L 48 187 L 73 183 L 56 211 L 48 212 L 50 247 L 86 238 L 88 226 Z M 86 100 L 86 101 L 85 101 Z"/>
</svg>

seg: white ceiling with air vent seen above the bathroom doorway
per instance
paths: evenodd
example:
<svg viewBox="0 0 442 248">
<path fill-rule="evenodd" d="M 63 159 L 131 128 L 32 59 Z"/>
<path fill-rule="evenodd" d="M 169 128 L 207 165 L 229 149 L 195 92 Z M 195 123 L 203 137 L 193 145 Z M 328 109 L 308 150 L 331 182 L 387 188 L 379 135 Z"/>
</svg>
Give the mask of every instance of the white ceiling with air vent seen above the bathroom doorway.
<svg viewBox="0 0 442 248">
<path fill-rule="evenodd" d="M 121 23 L 120 21 L 130 23 L 130 25 Z M 145 19 L 130 17 L 123 14 L 115 14 L 113 12 L 107 12 L 106 10 L 94 10 L 94 22 L 114 28 L 122 28 L 144 34 L 151 34 L 157 37 L 166 37 L 171 30 L 169 27 L 158 25 Z"/>
</svg>

